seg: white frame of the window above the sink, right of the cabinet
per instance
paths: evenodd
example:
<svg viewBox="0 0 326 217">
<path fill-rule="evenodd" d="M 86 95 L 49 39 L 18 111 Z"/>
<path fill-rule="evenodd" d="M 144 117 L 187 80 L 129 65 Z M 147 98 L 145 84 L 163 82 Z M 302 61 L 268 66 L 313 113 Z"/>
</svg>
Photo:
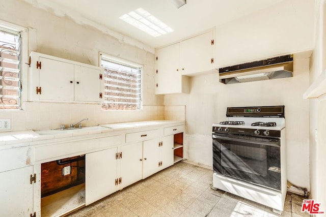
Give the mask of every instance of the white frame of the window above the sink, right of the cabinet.
<svg viewBox="0 0 326 217">
<path fill-rule="evenodd" d="M 139 109 L 134 109 L 134 110 L 129 110 L 129 109 L 119 109 L 119 110 L 116 110 L 116 109 L 102 109 L 102 106 L 101 106 L 101 110 L 102 111 L 142 111 L 143 110 L 143 97 L 144 97 L 144 68 L 145 66 L 142 65 L 142 64 L 139 64 L 139 63 L 135 63 L 133 61 L 130 61 L 130 60 L 127 60 L 127 59 L 124 59 L 124 58 L 120 58 L 120 57 L 117 57 L 117 56 L 114 56 L 114 55 L 110 55 L 110 54 L 107 54 L 107 53 L 104 53 L 104 52 L 99 52 L 99 60 L 98 60 L 98 66 L 101 67 L 101 69 L 103 70 L 103 77 L 105 77 L 104 75 L 104 68 L 102 68 L 102 55 L 104 55 L 106 58 L 108 59 L 111 59 L 113 61 L 116 61 L 116 62 L 120 62 L 120 63 L 123 63 L 123 64 L 127 64 L 127 65 L 130 65 L 130 66 L 134 66 L 134 67 L 138 67 L 138 68 L 141 68 L 141 100 L 140 100 L 140 108 Z M 105 86 L 104 86 L 104 81 L 103 81 L 103 94 L 105 92 Z M 104 97 L 103 97 L 103 102 L 104 103 Z M 102 104 L 101 103 L 101 104 Z"/>
</svg>

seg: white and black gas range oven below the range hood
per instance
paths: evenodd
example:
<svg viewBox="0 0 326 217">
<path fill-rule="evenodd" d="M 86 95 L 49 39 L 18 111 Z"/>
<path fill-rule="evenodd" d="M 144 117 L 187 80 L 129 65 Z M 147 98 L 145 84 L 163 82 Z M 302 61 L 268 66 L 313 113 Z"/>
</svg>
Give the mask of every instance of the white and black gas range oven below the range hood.
<svg viewBox="0 0 326 217">
<path fill-rule="evenodd" d="M 281 213 L 286 196 L 284 106 L 228 107 L 213 124 L 213 188 Z"/>
</svg>

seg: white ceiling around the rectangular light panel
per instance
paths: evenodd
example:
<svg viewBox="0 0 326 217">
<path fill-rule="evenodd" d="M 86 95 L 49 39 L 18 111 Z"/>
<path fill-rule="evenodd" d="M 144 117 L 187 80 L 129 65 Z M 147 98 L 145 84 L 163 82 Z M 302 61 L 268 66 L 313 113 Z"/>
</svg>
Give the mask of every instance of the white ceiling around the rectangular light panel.
<svg viewBox="0 0 326 217">
<path fill-rule="evenodd" d="M 187 0 L 177 9 L 171 0 L 24 0 L 46 8 L 49 12 L 87 19 L 129 36 L 153 48 L 194 36 L 214 26 L 255 13 L 284 0 Z M 119 19 L 135 9 L 143 8 L 169 25 L 174 32 L 152 37 Z"/>
</svg>

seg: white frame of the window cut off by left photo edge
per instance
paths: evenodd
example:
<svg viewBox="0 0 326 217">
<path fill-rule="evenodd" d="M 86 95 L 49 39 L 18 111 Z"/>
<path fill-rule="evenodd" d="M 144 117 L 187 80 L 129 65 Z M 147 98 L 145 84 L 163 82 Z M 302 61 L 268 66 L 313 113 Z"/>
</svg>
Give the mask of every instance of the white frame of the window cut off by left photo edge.
<svg viewBox="0 0 326 217">
<path fill-rule="evenodd" d="M 23 102 L 28 100 L 28 70 L 29 70 L 29 47 L 28 47 L 28 28 L 0 20 L 0 26 L 15 32 L 20 32 L 20 105 L 18 109 L 0 109 L 0 111 L 18 111 L 25 110 L 25 104 Z"/>
</svg>

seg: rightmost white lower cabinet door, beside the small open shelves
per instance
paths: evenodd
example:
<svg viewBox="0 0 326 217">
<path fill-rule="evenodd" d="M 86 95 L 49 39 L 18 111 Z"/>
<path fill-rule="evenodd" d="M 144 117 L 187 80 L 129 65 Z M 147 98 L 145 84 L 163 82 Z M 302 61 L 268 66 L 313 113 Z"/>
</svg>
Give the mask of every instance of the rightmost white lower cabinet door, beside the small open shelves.
<svg viewBox="0 0 326 217">
<path fill-rule="evenodd" d="M 161 138 L 160 161 L 162 162 L 161 170 L 173 165 L 173 135 Z"/>
</svg>

